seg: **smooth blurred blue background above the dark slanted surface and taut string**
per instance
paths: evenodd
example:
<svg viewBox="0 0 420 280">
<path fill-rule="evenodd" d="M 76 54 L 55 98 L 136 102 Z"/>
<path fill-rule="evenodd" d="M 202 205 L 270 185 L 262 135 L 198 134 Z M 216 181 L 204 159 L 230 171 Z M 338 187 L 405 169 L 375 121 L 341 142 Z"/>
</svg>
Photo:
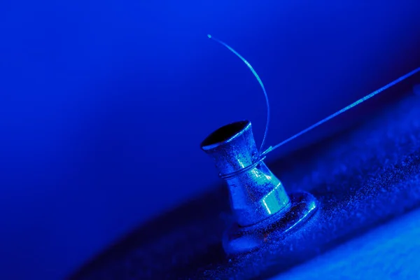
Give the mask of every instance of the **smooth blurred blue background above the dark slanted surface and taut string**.
<svg viewBox="0 0 420 280">
<path fill-rule="evenodd" d="M 208 33 L 265 83 L 267 144 L 419 66 L 419 1 L 354 2 L 2 1 L 0 279 L 62 278 L 215 186 L 221 125 L 260 143 L 260 87 Z"/>
</svg>

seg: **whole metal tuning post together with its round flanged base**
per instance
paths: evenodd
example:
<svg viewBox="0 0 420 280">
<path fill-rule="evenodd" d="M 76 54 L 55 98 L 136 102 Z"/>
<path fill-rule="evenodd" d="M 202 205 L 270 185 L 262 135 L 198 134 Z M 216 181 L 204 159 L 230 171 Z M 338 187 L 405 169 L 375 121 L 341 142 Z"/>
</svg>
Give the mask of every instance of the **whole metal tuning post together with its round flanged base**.
<svg viewBox="0 0 420 280">
<path fill-rule="evenodd" d="M 248 120 L 219 128 L 201 147 L 228 183 L 236 221 L 225 233 L 223 247 L 227 253 L 256 248 L 267 241 L 269 232 L 287 232 L 316 209 L 316 200 L 308 193 L 295 194 L 290 200 L 264 158 L 258 158 Z"/>
</svg>

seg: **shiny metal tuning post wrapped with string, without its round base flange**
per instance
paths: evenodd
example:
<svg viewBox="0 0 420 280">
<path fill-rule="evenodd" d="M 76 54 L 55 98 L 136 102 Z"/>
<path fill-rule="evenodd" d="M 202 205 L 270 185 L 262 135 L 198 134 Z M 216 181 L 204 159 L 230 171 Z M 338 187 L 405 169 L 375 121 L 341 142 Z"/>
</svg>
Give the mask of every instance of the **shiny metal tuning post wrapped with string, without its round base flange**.
<svg viewBox="0 0 420 280">
<path fill-rule="evenodd" d="M 281 181 L 258 157 L 251 123 L 231 123 L 209 135 L 201 144 L 228 183 L 230 203 L 241 227 L 255 225 L 286 211 L 290 199 Z"/>
</svg>

